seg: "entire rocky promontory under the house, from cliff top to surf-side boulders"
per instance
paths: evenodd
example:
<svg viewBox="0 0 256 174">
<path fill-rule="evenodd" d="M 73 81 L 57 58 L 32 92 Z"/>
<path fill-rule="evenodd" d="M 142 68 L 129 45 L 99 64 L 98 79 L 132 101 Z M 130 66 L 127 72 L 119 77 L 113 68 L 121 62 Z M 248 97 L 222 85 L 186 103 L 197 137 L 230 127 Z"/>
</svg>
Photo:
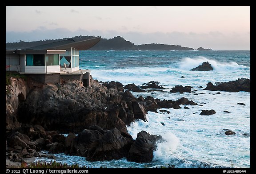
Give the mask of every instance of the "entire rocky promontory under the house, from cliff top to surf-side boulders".
<svg viewBox="0 0 256 174">
<path fill-rule="evenodd" d="M 11 78 L 6 84 L 7 158 L 21 160 L 48 150 L 84 156 L 90 161 L 120 159 L 128 157 L 133 144 L 131 160 L 148 161 L 158 138 L 141 133 L 137 142 L 145 140 L 147 146 L 143 148 L 150 151 L 144 151 L 148 155 L 136 154 L 139 145 L 133 143 L 126 125 L 136 119 L 147 121 L 148 111 L 157 108 L 178 109 L 179 104 L 196 104 L 184 97 L 177 101 L 136 98 L 115 81 L 101 85 L 91 77 L 90 84 L 84 87 L 81 81 L 68 80 L 40 84 Z M 68 132 L 73 133 L 68 137 L 60 135 Z M 132 159 L 133 153 L 137 159 Z"/>
</svg>

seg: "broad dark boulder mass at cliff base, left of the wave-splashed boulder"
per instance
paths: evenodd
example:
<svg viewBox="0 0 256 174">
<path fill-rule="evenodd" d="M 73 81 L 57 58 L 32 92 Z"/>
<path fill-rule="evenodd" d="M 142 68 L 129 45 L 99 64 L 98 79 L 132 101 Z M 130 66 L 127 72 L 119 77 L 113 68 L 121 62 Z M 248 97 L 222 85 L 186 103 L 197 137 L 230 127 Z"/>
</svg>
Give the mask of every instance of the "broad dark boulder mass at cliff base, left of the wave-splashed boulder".
<svg viewBox="0 0 256 174">
<path fill-rule="evenodd" d="M 127 157 L 128 151 L 134 141 L 132 137 L 121 135 L 117 128 L 104 130 L 97 125 L 84 129 L 76 138 L 70 138 L 66 147 L 72 149 L 72 153 L 86 157 L 89 161 L 103 161 Z M 68 148 L 65 153 L 69 154 Z"/>
</svg>

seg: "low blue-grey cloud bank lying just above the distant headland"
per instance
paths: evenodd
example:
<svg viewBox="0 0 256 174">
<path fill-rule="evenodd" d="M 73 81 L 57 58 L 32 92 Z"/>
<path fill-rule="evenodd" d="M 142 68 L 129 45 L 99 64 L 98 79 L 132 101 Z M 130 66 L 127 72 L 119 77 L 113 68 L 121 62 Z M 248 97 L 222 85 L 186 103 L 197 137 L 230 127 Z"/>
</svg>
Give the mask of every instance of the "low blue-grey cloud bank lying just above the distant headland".
<svg viewBox="0 0 256 174">
<path fill-rule="evenodd" d="M 125 27 L 123 26 L 123 29 Z M 84 30 L 79 28 L 76 31 L 70 31 L 66 28 L 47 29 L 46 27 L 39 27 L 30 32 L 6 32 L 6 43 L 38 41 L 44 39 L 63 39 L 72 38 L 74 36 L 89 35 L 101 36 L 102 38 L 110 39 L 115 36 L 122 36 L 135 45 L 147 43 L 162 43 L 170 45 L 181 45 L 197 49 L 200 46 L 204 48 L 212 48 L 214 50 L 250 50 L 250 33 L 231 33 L 224 34 L 219 31 L 212 31 L 209 33 L 196 32 L 124 32 L 121 31 L 100 31 L 100 30 Z"/>
</svg>

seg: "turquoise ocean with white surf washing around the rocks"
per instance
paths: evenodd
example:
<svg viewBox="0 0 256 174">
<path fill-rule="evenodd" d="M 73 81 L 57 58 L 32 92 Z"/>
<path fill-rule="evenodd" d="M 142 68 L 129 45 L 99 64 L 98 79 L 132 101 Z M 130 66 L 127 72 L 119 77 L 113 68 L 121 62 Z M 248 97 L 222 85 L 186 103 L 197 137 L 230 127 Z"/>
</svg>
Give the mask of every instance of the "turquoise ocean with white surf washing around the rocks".
<svg viewBox="0 0 256 174">
<path fill-rule="evenodd" d="M 190 71 L 203 62 L 209 62 L 213 70 Z M 198 105 L 188 105 L 189 109 L 182 104 L 180 109 L 164 108 L 170 113 L 160 109 L 158 113 L 148 112 L 148 122 L 136 120 L 127 127 L 134 139 L 142 130 L 165 139 L 157 143 L 152 162 L 129 162 L 125 158 L 89 162 L 83 157 L 54 154 L 56 161 L 92 168 L 250 168 L 250 93 L 204 90 L 209 81 L 214 84 L 250 79 L 250 50 L 86 50 L 80 51 L 80 69 L 92 70 L 93 79 L 103 82 L 144 85 L 158 81 L 166 88 L 164 92 L 132 94 L 174 101 L 186 97 Z M 175 85 L 192 86 L 192 93 L 170 93 Z M 206 109 L 216 114 L 201 116 Z M 225 135 L 227 130 L 236 134 Z"/>
</svg>

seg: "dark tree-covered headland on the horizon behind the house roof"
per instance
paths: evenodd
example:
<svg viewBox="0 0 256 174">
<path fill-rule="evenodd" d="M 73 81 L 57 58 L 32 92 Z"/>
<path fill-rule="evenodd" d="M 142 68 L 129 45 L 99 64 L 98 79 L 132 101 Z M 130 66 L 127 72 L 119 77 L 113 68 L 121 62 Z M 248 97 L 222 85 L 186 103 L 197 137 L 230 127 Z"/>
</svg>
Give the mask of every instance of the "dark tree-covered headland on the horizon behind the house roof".
<svg viewBox="0 0 256 174">
<path fill-rule="evenodd" d="M 25 49 L 31 46 L 42 45 L 47 43 L 53 43 L 60 40 L 65 39 L 73 39 L 74 41 L 80 41 L 83 39 L 92 39 L 96 38 L 96 36 L 75 36 L 73 38 L 64 38 L 64 39 L 45 39 L 40 41 L 32 41 L 32 42 L 16 42 L 16 43 L 6 43 L 6 49 Z M 101 38 L 100 42 L 95 46 L 90 48 L 89 50 L 194 50 L 193 48 L 184 47 L 180 45 L 168 45 L 168 44 L 160 44 L 160 43 L 150 43 L 150 44 L 142 44 L 135 45 L 134 43 L 125 40 L 121 36 L 116 36 L 111 39 Z M 196 50 L 211 50 L 204 49 L 203 47 L 199 47 Z"/>
</svg>

